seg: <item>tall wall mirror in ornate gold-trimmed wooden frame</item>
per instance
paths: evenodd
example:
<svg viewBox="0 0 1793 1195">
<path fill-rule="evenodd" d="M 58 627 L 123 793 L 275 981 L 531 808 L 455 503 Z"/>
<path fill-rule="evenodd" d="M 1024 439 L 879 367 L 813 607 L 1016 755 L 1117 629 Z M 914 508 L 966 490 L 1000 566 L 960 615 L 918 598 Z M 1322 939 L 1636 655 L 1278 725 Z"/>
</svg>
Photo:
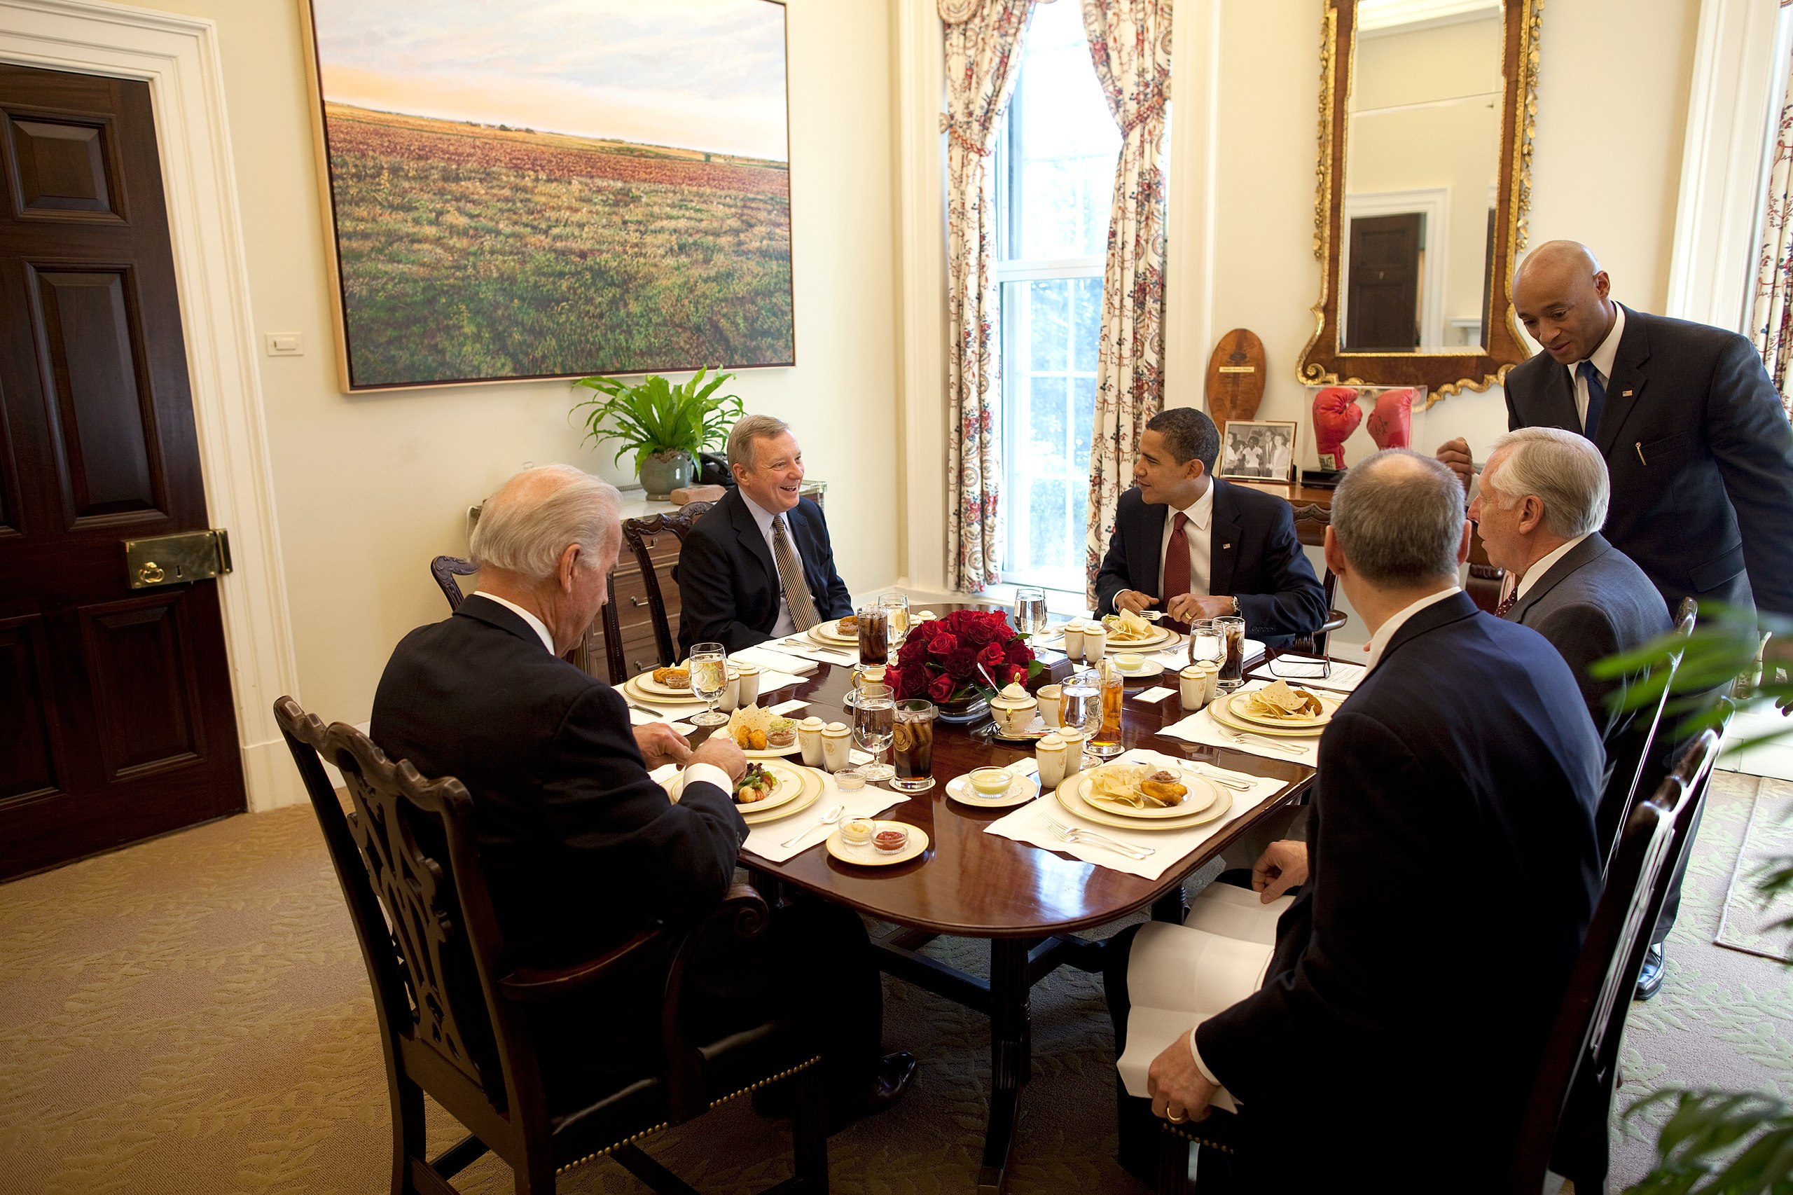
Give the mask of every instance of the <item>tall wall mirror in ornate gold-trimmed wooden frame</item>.
<svg viewBox="0 0 1793 1195">
<path fill-rule="evenodd" d="M 1323 0 L 1307 386 L 1486 389 L 1529 355 L 1542 0 Z"/>
</svg>

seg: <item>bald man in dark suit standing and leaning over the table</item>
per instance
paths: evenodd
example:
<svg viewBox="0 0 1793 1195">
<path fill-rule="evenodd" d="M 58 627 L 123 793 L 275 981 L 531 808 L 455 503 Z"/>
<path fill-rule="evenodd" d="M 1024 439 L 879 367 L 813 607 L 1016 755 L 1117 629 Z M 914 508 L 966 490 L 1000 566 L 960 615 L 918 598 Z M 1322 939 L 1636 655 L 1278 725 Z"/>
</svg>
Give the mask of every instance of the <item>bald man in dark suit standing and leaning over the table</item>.
<svg viewBox="0 0 1793 1195">
<path fill-rule="evenodd" d="M 1513 275 L 1544 352 L 1506 375 L 1508 427 L 1594 441 L 1612 477 L 1605 535 L 1669 610 L 1682 598 L 1793 614 L 1793 429 L 1734 332 L 1612 301 L 1587 246 L 1551 240 Z M 1470 475 L 1468 443 L 1438 458 Z"/>
</svg>

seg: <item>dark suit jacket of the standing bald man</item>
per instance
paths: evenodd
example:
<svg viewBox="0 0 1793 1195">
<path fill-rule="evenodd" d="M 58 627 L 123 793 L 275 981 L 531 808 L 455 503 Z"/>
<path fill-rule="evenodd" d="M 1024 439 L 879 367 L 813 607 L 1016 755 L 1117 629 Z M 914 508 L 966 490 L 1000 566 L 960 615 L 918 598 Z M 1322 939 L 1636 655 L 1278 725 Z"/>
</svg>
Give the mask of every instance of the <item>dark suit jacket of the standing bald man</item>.
<svg viewBox="0 0 1793 1195">
<path fill-rule="evenodd" d="M 1569 370 L 1542 352 L 1515 366 L 1506 418 L 1581 431 Z M 1754 590 L 1793 614 L 1793 429 L 1746 339 L 1626 307 L 1590 440 L 1612 474 L 1607 538 L 1669 610 Z"/>
</svg>

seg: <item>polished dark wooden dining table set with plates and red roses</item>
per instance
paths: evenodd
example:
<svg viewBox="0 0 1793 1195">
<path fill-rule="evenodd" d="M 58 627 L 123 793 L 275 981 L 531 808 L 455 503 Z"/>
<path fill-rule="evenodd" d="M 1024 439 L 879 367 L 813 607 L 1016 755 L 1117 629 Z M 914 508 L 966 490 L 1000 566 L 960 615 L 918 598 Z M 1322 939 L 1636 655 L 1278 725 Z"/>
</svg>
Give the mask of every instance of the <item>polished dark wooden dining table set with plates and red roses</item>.
<svg viewBox="0 0 1793 1195">
<path fill-rule="evenodd" d="M 938 603 L 916 606 L 934 614 L 952 610 L 1000 608 L 992 603 Z M 776 650 L 776 642 L 767 642 Z M 1070 664 L 1061 653 L 1038 650 L 1036 657 L 1054 675 Z M 853 689 L 853 655 L 837 664 L 819 664 L 796 685 L 762 693 L 760 702 L 776 705 L 801 700 L 809 714 L 823 720 L 852 721 L 843 700 Z M 1246 660 L 1246 671 L 1262 662 L 1262 653 Z M 1176 687 L 1174 666 L 1146 682 L 1128 682 L 1130 696 L 1148 684 Z M 1208 746 L 1158 736 L 1182 720 L 1185 711 L 1173 694 L 1148 703 L 1124 700 L 1121 743 L 1144 746 L 1165 755 L 1200 761 L 1252 777 L 1280 781 L 1273 797 L 1253 809 L 1234 815 L 1198 849 L 1171 865 L 1158 879 L 1144 879 L 1122 870 L 1088 863 L 1061 850 L 1045 850 L 1015 842 L 988 825 L 1009 809 L 961 804 L 947 795 L 947 781 L 974 768 L 1008 766 L 1033 754 L 1026 743 L 1009 743 L 988 734 L 988 716 L 966 725 L 936 723 L 932 775 L 936 786 L 925 793 L 904 795 L 884 818 L 923 829 L 929 847 L 918 858 L 891 867 L 843 863 L 823 849 L 812 849 L 785 861 L 742 852 L 741 863 L 767 899 L 791 888 L 834 901 L 870 919 L 895 926 L 875 935 L 873 949 L 886 974 L 914 983 L 929 992 L 957 1001 L 990 1017 L 990 1114 L 984 1129 L 979 1191 L 1004 1190 L 1011 1166 L 1022 1091 L 1031 1077 L 1031 989 L 1061 965 L 1083 971 L 1101 969 L 1096 942 L 1079 929 L 1103 926 L 1140 908 L 1151 908 L 1158 920 L 1180 922 L 1185 912 L 1183 879 L 1219 858 L 1228 845 L 1252 833 L 1266 818 L 1304 800 L 1314 770 L 1295 761 Z M 699 741 L 697 736 L 692 736 Z M 1042 797 L 1047 800 L 1047 797 Z M 979 938 L 988 942 L 988 978 L 950 967 L 923 953 L 936 937 Z"/>
</svg>

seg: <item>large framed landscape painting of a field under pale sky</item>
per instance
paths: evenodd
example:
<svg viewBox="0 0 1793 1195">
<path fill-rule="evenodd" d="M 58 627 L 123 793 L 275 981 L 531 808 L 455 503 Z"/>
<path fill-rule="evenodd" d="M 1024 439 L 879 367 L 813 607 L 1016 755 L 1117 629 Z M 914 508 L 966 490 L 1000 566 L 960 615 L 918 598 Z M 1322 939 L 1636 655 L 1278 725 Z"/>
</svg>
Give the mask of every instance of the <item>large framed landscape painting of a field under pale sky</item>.
<svg viewBox="0 0 1793 1195">
<path fill-rule="evenodd" d="M 782 0 L 299 0 L 348 391 L 796 364 Z"/>
</svg>

